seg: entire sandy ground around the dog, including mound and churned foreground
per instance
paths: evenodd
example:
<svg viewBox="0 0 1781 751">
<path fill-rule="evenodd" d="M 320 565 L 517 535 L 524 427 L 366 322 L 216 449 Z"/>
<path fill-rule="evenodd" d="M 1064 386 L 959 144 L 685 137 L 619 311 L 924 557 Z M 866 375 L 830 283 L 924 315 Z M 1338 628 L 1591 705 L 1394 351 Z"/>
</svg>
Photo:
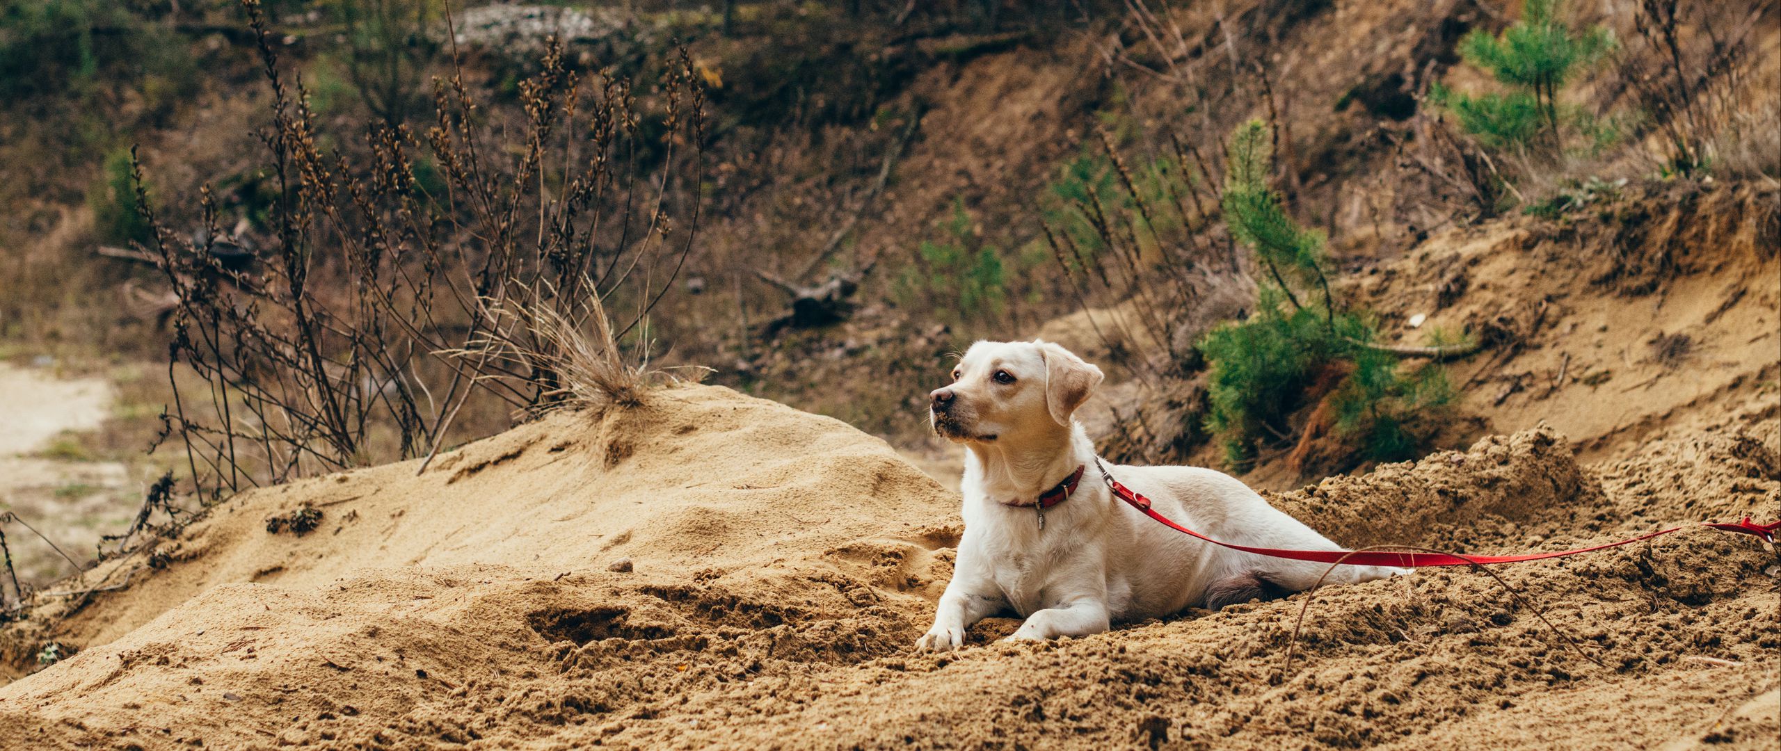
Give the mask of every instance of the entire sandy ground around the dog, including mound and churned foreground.
<svg viewBox="0 0 1781 751">
<path fill-rule="evenodd" d="M 1777 427 L 1776 409 L 1747 411 L 1594 468 L 1564 436 L 1525 431 L 1273 500 L 1350 545 L 1473 552 L 1767 518 Z M 322 511 L 315 530 L 267 532 L 305 505 Z M 32 632 L 85 648 L 0 689 L 0 737 L 1761 747 L 1777 728 L 1774 553 L 1751 537 L 1500 569 L 1526 602 L 1452 569 L 1327 589 L 1282 673 L 1304 596 L 1038 646 L 987 644 L 1015 625 L 990 619 L 980 646 L 910 653 L 951 573 L 955 518 L 882 441 L 721 388 L 557 415 L 420 477 L 408 463 L 248 493 L 166 543 L 162 568 L 110 564 L 142 569 Z M 609 569 L 618 559 L 634 569 Z M 55 618 L 39 610 L 36 628 Z"/>
</svg>

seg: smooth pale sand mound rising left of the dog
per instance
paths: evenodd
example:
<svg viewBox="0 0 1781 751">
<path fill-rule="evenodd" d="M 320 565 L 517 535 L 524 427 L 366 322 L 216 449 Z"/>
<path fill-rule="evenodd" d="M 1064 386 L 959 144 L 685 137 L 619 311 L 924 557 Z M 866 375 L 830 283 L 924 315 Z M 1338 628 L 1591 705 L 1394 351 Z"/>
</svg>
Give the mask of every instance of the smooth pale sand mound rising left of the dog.
<svg viewBox="0 0 1781 751">
<path fill-rule="evenodd" d="M 59 635 L 107 642 L 230 582 L 313 589 L 367 569 L 484 564 L 556 577 L 620 559 L 638 577 L 773 569 L 905 521 L 956 518 L 956 502 L 883 441 L 725 388 L 557 415 L 445 454 L 420 477 L 417 466 L 244 493 L 182 539 L 89 573 L 132 584 L 71 612 Z M 303 509 L 321 513 L 313 532 L 269 530 Z M 905 545 L 951 539 L 930 536 Z"/>
</svg>

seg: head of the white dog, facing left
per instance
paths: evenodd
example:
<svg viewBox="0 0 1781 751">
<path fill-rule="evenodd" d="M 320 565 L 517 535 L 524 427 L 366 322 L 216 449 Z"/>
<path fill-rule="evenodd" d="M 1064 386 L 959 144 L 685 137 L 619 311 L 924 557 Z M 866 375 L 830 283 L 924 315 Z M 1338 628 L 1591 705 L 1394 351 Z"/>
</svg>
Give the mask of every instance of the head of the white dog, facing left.
<svg viewBox="0 0 1781 751">
<path fill-rule="evenodd" d="M 1101 379 L 1101 368 L 1051 342 L 978 342 L 953 368 L 953 384 L 928 395 L 933 432 L 992 443 L 1069 429 Z"/>
</svg>

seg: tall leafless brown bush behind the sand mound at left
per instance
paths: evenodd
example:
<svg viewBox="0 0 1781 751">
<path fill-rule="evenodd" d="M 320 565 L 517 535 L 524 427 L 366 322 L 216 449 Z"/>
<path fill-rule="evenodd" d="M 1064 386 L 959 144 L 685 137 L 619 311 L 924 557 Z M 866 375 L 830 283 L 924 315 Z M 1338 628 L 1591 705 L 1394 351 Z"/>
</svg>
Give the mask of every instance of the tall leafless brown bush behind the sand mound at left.
<svg viewBox="0 0 1781 751">
<path fill-rule="evenodd" d="M 634 400 L 627 363 L 647 358 L 648 315 L 698 224 L 703 89 L 684 50 L 639 101 L 552 41 L 520 82 L 522 112 L 477 101 L 454 62 L 424 132 L 374 123 L 324 149 L 335 137 L 287 84 L 258 2 L 242 5 L 272 94 L 269 247 L 224 233 L 208 187 L 207 230 L 176 237 L 135 169 L 178 297 L 169 374 L 208 386 L 166 416 L 196 489 L 433 456 L 470 402 L 533 411 L 590 383 Z M 591 345 L 565 336 L 593 319 Z"/>
</svg>

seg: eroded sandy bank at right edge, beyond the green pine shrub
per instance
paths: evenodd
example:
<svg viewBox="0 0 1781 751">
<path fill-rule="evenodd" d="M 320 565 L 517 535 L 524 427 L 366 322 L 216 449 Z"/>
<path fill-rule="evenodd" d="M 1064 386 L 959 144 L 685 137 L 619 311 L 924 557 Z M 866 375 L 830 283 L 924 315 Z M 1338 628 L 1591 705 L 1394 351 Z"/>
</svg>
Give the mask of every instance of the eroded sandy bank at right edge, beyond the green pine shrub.
<svg viewBox="0 0 1781 751">
<path fill-rule="evenodd" d="M 1361 287 L 1405 343 L 1432 327 L 1491 340 L 1455 367 L 1485 431 L 1546 420 L 1585 457 L 1617 457 L 1674 420 L 1774 399 L 1777 205 L 1754 183 L 1635 185 L 1558 219 L 1452 230 Z"/>
</svg>

